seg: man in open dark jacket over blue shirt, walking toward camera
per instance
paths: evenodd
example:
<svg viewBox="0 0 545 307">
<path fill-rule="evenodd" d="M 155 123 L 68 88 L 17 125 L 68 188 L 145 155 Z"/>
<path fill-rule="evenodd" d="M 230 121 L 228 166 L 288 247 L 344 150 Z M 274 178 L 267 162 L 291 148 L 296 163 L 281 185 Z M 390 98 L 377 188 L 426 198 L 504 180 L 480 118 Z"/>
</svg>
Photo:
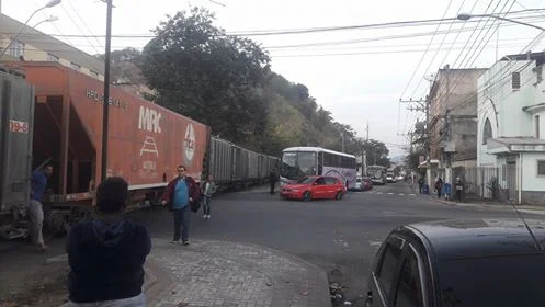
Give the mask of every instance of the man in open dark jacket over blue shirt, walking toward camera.
<svg viewBox="0 0 545 307">
<path fill-rule="evenodd" d="M 185 167 L 178 167 L 178 177 L 169 182 L 167 190 L 161 197 L 163 206 L 169 205 L 174 218 L 174 238 L 171 243 L 180 242 L 180 229 L 182 230 L 182 243 L 188 246 L 190 235 L 190 203 L 197 202 L 201 196 L 195 180 L 185 175 Z"/>
</svg>

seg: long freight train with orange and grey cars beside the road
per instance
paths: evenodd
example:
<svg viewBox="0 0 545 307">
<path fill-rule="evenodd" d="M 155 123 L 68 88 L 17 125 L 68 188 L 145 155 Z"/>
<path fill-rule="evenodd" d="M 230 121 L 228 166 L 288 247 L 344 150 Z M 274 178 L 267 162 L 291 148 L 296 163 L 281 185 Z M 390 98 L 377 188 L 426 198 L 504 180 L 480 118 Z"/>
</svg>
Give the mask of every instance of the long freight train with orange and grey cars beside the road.
<svg viewBox="0 0 545 307">
<path fill-rule="evenodd" d="M 0 236 L 27 234 L 25 204 L 35 169 L 54 167 L 44 224 L 63 231 L 92 212 L 102 169 L 103 83 L 56 62 L 0 71 Z M 179 164 L 220 190 L 265 183 L 279 158 L 212 135 L 211 128 L 132 93 L 110 90 L 107 175 L 129 184 L 129 209 L 149 207 Z"/>
</svg>

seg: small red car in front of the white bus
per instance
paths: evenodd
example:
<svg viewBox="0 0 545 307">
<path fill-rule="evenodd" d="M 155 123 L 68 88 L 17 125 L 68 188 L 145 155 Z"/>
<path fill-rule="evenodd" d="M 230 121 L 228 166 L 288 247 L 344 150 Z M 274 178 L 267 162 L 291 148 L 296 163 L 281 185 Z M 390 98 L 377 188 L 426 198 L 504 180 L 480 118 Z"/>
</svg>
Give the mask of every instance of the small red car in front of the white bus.
<svg viewBox="0 0 545 307">
<path fill-rule="evenodd" d="M 311 175 L 299 179 L 296 183 L 282 186 L 280 195 L 291 200 L 305 202 L 319 198 L 340 200 L 347 186 L 334 177 Z"/>
</svg>

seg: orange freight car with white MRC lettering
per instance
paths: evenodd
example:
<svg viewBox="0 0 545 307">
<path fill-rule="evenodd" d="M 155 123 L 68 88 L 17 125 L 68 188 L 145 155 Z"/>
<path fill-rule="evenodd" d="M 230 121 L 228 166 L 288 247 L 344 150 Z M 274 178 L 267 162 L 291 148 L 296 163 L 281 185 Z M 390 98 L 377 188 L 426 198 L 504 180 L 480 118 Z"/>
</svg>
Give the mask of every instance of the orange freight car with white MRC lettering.
<svg viewBox="0 0 545 307">
<path fill-rule="evenodd" d="M 52 159 L 52 201 L 91 198 L 102 164 L 103 82 L 55 62 L 18 64 L 35 87 L 33 163 Z M 200 179 L 209 128 L 114 86 L 107 173 L 134 192 L 162 189 L 179 164 Z M 137 193 L 136 193 L 137 194 Z"/>
</svg>

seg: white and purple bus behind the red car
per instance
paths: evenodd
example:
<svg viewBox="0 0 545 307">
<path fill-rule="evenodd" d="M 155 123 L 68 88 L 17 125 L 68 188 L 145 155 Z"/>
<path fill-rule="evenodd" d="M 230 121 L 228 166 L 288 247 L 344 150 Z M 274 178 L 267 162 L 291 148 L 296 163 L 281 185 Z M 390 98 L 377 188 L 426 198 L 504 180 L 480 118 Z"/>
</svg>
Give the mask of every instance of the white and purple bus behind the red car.
<svg viewBox="0 0 545 307">
<path fill-rule="evenodd" d="M 355 156 L 321 147 L 289 147 L 282 150 L 281 186 L 305 175 L 331 175 L 355 187 Z"/>
</svg>

